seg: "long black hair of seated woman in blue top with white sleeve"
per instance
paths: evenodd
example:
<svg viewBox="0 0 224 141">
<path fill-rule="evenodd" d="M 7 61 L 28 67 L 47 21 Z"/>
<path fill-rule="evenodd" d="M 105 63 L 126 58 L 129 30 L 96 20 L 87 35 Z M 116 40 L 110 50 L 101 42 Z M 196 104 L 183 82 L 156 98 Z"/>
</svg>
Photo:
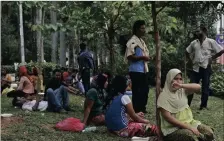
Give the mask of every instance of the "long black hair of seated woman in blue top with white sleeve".
<svg viewBox="0 0 224 141">
<path fill-rule="evenodd" d="M 114 99 L 115 96 L 121 94 L 124 94 L 127 88 L 127 78 L 121 75 L 115 76 L 115 78 L 112 80 L 111 84 L 111 90 L 108 93 L 108 96 L 105 100 L 105 104 L 103 106 L 103 109 L 105 110 L 107 106 L 110 104 L 110 102 Z"/>
</svg>

